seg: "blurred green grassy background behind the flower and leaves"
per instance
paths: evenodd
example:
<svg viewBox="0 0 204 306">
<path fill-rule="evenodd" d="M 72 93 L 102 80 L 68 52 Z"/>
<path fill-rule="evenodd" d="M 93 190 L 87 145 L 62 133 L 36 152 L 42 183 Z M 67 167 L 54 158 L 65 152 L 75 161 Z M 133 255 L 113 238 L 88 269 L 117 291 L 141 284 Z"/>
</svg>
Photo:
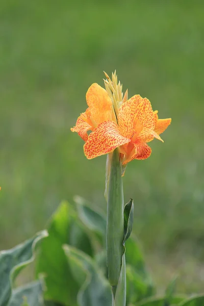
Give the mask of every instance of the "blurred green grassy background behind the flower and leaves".
<svg viewBox="0 0 204 306">
<path fill-rule="evenodd" d="M 71 133 L 86 91 L 116 69 L 129 97 L 148 97 L 172 118 L 131 162 L 124 197 L 161 290 L 175 273 L 181 292 L 204 282 L 203 1 L 0 3 L 0 249 L 41 230 L 75 194 L 106 211 L 106 157 L 87 160 Z"/>
</svg>

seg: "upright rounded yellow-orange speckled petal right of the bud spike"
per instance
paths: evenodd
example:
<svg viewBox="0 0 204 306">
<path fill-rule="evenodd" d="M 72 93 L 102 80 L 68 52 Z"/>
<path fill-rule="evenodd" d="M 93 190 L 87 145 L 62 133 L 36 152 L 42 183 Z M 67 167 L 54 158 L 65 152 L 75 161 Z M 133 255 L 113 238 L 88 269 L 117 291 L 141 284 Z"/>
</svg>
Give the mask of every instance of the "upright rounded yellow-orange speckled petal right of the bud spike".
<svg viewBox="0 0 204 306">
<path fill-rule="evenodd" d="M 127 138 L 131 138 L 134 133 L 139 134 L 141 126 L 144 132 L 154 130 L 154 114 L 149 100 L 140 95 L 134 95 L 123 103 L 119 108 L 118 124 L 121 134 Z"/>
</svg>

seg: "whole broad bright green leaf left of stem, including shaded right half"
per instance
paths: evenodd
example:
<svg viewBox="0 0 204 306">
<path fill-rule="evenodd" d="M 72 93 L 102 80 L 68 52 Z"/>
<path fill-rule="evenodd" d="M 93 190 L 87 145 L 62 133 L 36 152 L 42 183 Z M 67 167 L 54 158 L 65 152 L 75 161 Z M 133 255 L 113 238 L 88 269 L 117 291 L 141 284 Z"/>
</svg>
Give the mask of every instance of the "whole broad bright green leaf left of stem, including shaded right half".
<svg viewBox="0 0 204 306">
<path fill-rule="evenodd" d="M 64 305 L 77 306 L 79 285 L 72 276 L 62 246 L 72 244 L 92 255 L 90 238 L 67 202 L 62 202 L 50 219 L 48 233 L 49 236 L 40 246 L 36 266 L 37 275 L 45 276 L 47 290 L 44 297 Z"/>
</svg>

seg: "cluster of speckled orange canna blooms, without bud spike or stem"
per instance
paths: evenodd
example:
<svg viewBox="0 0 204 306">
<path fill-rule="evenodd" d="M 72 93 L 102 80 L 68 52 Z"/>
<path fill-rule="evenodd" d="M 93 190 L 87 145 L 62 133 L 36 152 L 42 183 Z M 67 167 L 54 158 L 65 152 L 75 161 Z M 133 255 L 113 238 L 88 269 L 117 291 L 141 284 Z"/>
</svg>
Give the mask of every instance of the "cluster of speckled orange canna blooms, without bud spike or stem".
<svg viewBox="0 0 204 306">
<path fill-rule="evenodd" d="M 158 111 L 153 112 L 150 101 L 140 95 L 119 103 L 117 120 L 113 112 L 112 100 L 107 91 L 98 84 L 89 88 L 87 95 L 89 108 L 82 113 L 76 125 L 71 129 L 84 140 L 84 153 L 88 159 L 112 152 L 119 147 L 123 165 L 150 156 L 148 142 L 160 138 L 171 119 L 159 119 Z M 92 133 L 87 134 L 91 130 Z"/>
</svg>

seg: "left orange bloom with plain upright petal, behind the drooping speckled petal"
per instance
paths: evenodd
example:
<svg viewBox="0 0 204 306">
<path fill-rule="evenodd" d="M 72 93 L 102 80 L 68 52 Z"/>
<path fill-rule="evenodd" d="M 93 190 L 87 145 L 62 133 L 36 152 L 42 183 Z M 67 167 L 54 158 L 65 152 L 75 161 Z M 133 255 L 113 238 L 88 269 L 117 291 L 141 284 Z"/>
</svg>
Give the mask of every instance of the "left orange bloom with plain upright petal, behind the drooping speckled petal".
<svg viewBox="0 0 204 306">
<path fill-rule="evenodd" d="M 112 101 L 107 91 L 97 83 L 92 84 L 86 94 L 88 109 L 77 119 L 76 125 L 71 129 L 87 141 L 87 131 L 93 131 L 101 122 L 112 120 Z"/>
</svg>

